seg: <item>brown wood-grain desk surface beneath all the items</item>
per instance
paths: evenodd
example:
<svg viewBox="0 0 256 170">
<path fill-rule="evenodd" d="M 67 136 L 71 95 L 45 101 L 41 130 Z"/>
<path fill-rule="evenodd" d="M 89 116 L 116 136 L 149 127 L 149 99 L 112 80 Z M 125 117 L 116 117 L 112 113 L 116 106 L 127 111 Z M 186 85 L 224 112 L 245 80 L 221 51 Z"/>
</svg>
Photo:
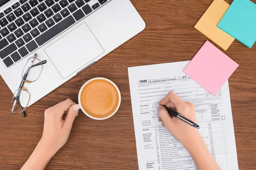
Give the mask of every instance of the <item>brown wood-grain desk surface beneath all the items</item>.
<svg viewBox="0 0 256 170">
<path fill-rule="evenodd" d="M 0 77 L 1 170 L 19 169 L 41 138 L 44 110 L 67 98 L 78 102 L 79 88 L 94 77 L 111 79 L 119 87 L 119 111 L 104 121 L 90 119 L 80 111 L 67 144 L 46 170 L 138 170 L 127 68 L 192 59 L 207 40 L 193 27 L 212 0 L 132 3 L 145 20 L 145 30 L 29 107 L 26 118 L 10 115 L 12 92 Z M 240 65 L 229 79 L 239 170 L 255 170 L 256 44 L 249 49 L 235 40 L 224 52 Z"/>
</svg>

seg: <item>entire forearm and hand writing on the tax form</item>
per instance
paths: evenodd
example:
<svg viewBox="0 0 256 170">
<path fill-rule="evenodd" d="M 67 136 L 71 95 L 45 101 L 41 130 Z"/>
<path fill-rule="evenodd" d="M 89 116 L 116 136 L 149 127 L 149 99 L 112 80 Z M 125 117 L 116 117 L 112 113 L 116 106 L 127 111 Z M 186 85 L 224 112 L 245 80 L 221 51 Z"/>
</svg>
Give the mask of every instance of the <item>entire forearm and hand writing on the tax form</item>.
<svg viewBox="0 0 256 170">
<path fill-rule="evenodd" d="M 169 94 L 159 102 L 158 115 L 170 133 L 189 151 L 195 161 L 198 170 L 220 170 L 218 164 L 213 159 L 198 129 L 187 125 L 176 117 L 170 117 L 166 109 L 161 105 L 176 110 L 188 119 L 196 122 L 195 105 L 191 102 L 183 102 L 177 94 Z"/>
</svg>

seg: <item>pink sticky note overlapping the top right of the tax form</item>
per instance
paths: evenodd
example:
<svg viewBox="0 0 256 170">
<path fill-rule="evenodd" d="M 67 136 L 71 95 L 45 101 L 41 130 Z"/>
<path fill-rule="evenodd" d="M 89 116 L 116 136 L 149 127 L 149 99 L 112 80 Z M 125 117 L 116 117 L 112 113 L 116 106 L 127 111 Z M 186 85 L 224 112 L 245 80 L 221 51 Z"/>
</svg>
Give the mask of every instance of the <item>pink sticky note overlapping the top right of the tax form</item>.
<svg viewBox="0 0 256 170">
<path fill-rule="evenodd" d="M 183 72 L 215 95 L 238 66 L 230 57 L 206 41 Z"/>
</svg>

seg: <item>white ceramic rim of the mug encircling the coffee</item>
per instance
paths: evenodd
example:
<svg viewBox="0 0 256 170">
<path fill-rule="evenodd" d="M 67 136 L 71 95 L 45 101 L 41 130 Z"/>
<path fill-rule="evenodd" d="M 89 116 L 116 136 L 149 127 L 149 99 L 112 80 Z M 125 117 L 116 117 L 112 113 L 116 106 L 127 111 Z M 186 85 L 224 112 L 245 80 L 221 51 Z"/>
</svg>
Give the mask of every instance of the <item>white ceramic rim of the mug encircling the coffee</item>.
<svg viewBox="0 0 256 170">
<path fill-rule="evenodd" d="M 96 118 L 96 117 L 93 117 L 93 116 L 91 116 L 90 114 L 86 113 L 86 111 L 84 111 L 84 109 L 81 107 L 81 91 L 82 91 L 82 89 L 83 89 L 84 86 L 87 85 L 89 82 L 91 82 L 91 81 L 93 81 L 93 80 L 96 80 L 96 79 L 104 79 L 104 80 L 107 80 L 108 82 L 111 82 L 111 84 L 112 84 L 113 86 L 115 86 L 115 88 L 116 88 L 116 90 L 117 90 L 117 92 L 118 92 L 118 95 L 119 95 L 119 103 L 118 103 L 118 106 L 117 106 L 116 110 L 115 110 L 111 115 L 109 115 L 109 116 L 107 116 L 107 117 L 104 117 L 104 118 Z M 90 117 L 90 118 L 92 118 L 92 119 L 96 119 L 96 120 L 104 120 L 104 119 L 108 119 L 108 118 L 110 118 L 111 116 L 113 116 L 113 115 L 116 113 L 116 111 L 119 109 L 120 104 L 121 104 L 121 94 L 120 94 L 120 91 L 119 91 L 118 87 L 116 86 L 116 84 L 113 83 L 111 80 L 105 79 L 105 78 L 102 78 L 102 77 L 97 77 L 97 78 L 90 79 L 90 80 L 88 80 L 87 82 L 84 83 L 84 85 L 81 87 L 81 89 L 80 89 L 80 91 L 79 91 L 78 102 L 79 102 L 79 105 L 80 105 L 81 110 L 82 110 L 82 111 L 84 112 L 84 114 L 86 114 L 88 117 Z"/>
</svg>

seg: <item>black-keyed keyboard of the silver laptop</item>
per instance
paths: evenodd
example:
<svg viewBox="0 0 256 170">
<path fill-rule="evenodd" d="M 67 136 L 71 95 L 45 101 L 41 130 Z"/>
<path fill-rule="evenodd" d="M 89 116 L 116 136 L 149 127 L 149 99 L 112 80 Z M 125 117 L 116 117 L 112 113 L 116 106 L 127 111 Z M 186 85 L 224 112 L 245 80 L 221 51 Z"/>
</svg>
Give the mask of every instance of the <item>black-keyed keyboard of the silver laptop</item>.
<svg viewBox="0 0 256 170">
<path fill-rule="evenodd" d="M 107 0 L 20 0 L 0 12 L 0 59 L 9 68 Z"/>
</svg>

